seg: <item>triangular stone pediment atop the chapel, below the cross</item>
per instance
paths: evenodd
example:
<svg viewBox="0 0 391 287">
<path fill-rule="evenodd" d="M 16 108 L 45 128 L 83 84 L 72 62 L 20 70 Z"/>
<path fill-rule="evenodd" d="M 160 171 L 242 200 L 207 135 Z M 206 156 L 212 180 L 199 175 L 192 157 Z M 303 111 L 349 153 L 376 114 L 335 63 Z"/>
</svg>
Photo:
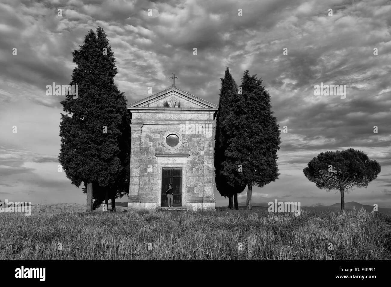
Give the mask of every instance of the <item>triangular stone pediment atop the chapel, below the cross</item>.
<svg viewBox="0 0 391 287">
<path fill-rule="evenodd" d="M 158 92 L 152 96 L 146 97 L 145 99 L 131 103 L 127 106 L 127 108 L 163 108 L 164 103 L 167 102 L 170 106 L 175 107 L 178 107 L 180 104 L 180 108 L 212 108 L 216 110 L 219 108 L 219 106 L 215 104 L 200 99 L 199 97 L 176 87 L 170 87 L 169 89 Z"/>
</svg>

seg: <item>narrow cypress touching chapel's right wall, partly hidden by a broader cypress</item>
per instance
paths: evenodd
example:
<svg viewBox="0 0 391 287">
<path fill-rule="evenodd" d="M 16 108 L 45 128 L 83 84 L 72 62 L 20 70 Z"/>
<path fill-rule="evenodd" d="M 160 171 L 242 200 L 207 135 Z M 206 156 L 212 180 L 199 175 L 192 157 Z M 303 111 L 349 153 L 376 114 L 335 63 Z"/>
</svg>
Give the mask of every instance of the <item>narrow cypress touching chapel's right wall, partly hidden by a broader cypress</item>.
<svg viewBox="0 0 391 287">
<path fill-rule="evenodd" d="M 216 115 L 215 152 L 213 163 L 215 166 L 216 188 L 222 196 L 229 198 L 229 209 L 233 208 L 233 201 L 235 201 L 235 209 L 239 209 L 237 194 L 242 192 L 246 186 L 235 181 L 228 183 L 226 175 L 221 172 L 222 165 L 224 161 L 226 161 L 225 152 L 228 147 L 227 129 L 230 128 L 230 125 L 227 122 L 227 117 L 233 112 L 232 101 L 233 97 L 236 95 L 237 85 L 227 67 L 224 79 L 221 78 L 219 109 L 217 110 Z"/>
</svg>

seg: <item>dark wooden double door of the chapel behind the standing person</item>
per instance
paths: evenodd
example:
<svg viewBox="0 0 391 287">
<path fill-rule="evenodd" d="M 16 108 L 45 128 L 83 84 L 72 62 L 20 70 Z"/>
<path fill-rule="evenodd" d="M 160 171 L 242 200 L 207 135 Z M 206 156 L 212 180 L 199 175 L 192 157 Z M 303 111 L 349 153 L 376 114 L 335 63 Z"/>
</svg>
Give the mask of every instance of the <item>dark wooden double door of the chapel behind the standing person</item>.
<svg viewBox="0 0 391 287">
<path fill-rule="evenodd" d="M 172 184 L 173 207 L 182 207 L 182 168 L 161 168 L 161 207 L 169 207 L 166 190 Z"/>
</svg>

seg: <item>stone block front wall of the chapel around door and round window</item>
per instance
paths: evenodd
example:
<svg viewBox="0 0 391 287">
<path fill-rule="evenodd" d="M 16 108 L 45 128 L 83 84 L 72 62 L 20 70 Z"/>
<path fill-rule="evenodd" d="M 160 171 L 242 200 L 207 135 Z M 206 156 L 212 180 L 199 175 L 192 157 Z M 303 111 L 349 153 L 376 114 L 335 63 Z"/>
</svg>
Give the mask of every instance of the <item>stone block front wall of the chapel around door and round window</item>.
<svg viewBox="0 0 391 287">
<path fill-rule="evenodd" d="M 164 100 L 159 98 L 149 103 L 145 109 L 135 107 L 131 110 L 132 150 L 128 208 L 160 207 L 161 168 L 181 167 L 185 185 L 182 187 L 182 206 L 189 211 L 215 210 L 215 108 L 202 108 L 195 105 L 192 99 L 181 98 L 181 108 L 163 109 L 160 106 L 163 106 Z M 154 105 L 157 106 L 156 109 L 153 108 Z M 185 131 L 184 125 L 187 126 Z M 195 134 L 192 134 L 194 130 L 189 126 L 194 125 L 197 128 Z M 203 127 L 200 128 L 200 125 Z M 204 128 L 209 130 L 205 131 Z M 182 143 L 178 149 L 170 150 L 163 144 L 163 136 L 169 131 L 181 135 Z"/>
</svg>

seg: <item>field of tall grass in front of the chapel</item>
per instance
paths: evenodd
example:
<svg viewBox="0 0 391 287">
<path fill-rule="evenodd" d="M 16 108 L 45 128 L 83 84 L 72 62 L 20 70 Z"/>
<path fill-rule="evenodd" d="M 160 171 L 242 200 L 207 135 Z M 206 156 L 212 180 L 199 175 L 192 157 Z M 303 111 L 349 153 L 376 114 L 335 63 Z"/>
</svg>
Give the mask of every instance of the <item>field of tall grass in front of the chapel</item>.
<svg viewBox="0 0 391 287">
<path fill-rule="evenodd" d="M 1 213 L 0 259 L 391 259 L 391 216 L 364 210 L 302 211 L 294 216 L 271 214 L 264 208 L 75 212 L 83 211 L 80 208 L 49 212 L 33 207 L 31 216 Z M 62 250 L 57 250 L 58 243 Z"/>
</svg>

